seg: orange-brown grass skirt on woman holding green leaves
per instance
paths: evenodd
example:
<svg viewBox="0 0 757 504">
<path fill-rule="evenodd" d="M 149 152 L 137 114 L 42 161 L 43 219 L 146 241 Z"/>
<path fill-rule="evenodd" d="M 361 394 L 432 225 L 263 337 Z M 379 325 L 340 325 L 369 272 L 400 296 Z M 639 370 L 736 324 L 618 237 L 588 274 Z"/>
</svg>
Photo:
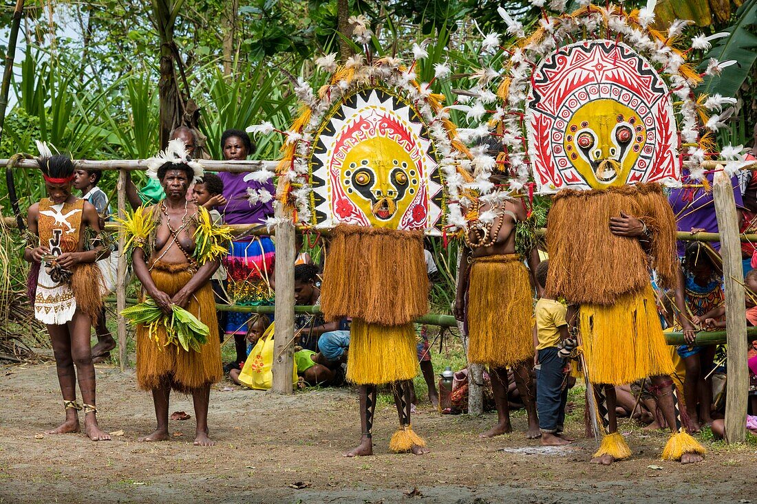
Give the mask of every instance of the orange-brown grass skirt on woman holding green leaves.
<svg viewBox="0 0 757 504">
<path fill-rule="evenodd" d="M 173 296 L 192 278 L 188 266 L 158 262 L 153 266 L 150 276 L 155 287 Z M 174 345 L 163 347 L 166 331 L 160 329 L 157 331 L 160 341 L 158 345 L 149 338 L 145 325 L 137 325 L 137 384 L 142 390 L 152 390 L 161 381 L 167 380 L 173 390 L 188 394 L 223 378 L 216 303 L 210 282 L 206 282 L 189 298 L 186 309 L 210 329 L 207 343 L 200 352 L 186 352 Z"/>
</svg>

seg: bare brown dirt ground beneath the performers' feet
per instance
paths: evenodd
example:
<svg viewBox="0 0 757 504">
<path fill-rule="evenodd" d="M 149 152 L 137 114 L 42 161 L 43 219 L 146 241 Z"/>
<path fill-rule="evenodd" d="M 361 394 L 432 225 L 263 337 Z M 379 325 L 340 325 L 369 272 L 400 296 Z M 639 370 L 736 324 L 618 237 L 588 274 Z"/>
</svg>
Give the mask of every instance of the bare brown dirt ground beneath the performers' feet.
<svg viewBox="0 0 757 504">
<path fill-rule="evenodd" d="M 559 450 L 526 440 L 522 412 L 516 433 L 481 440 L 493 413 L 439 415 L 425 401 L 413 421 L 431 453 L 395 455 L 397 417 L 385 398 L 376 455 L 346 459 L 360 434 L 353 390 L 282 397 L 224 382 L 210 396 L 216 446 L 192 445 L 194 418 L 171 422 L 170 441 L 139 443 L 154 428 L 150 395 L 133 372 L 98 366 L 97 379 L 101 427 L 123 430 L 110 442 L 40 434 L 64 416 L 53 363 L 0 367 L 0 502 L 751 502 L 757 447 L 708 443 L 705 463 L 682 466 L 659 460 L 664 433 L 630 422 L 621 431 L 634 457 L 597 467 L 587 462 L 593 440 Z M 187 397 L 173 398 L 176 410 L 194 417 Z M 568 430 L 580 437 L 583 424 Z"/>
</svg>

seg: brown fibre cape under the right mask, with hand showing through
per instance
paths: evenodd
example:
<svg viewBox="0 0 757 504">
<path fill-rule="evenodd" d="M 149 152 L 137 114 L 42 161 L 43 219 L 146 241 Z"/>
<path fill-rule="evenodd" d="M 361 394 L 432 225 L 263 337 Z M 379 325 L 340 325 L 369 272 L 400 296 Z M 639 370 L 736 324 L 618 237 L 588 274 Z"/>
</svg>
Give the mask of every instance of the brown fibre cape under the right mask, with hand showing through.
<svg viewBox="0 0 757 504">
<path fill-rule="evenodd" d="M 610 217 L 636 216 L 650 229 L 650 255 L 637 238 L 613 235 Z M 547 296 L 574 303 L 610 305 L 650 283 L 678 283 L 675 216 L 659 184 L 623 185 L 593 191 L 560 191 L 547 220 L 550 270 Z"/>
</svg>

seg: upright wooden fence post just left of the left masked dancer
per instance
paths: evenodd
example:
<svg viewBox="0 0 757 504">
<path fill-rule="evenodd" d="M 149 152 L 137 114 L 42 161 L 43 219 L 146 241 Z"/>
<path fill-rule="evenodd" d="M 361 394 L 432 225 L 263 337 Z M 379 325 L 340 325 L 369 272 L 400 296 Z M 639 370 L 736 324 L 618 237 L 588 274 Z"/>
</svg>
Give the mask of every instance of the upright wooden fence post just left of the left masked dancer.
<svg viewBox="0 0 757 504">
<path fill-rule="evenodd" d="M 273 332 L 273 391 L 291 394 L 291 370 L 294 366 L 294 225 L 291 215 L 279 201 L 274 204 L 276 217 L 286 219 L 276 224 L 276 326 Z"/>
</svg>

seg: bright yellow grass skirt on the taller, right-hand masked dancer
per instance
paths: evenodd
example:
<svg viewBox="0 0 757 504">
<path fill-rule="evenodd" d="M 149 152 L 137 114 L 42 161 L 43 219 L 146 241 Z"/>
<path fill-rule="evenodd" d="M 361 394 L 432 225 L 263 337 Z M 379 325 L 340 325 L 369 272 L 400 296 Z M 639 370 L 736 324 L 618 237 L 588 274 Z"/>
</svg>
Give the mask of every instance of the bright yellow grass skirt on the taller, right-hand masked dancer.
<svg viewBox="0 0 757 504">
<path fill-rule="evenodd" d="M 589 378 L 622 385 L 674 372 L 651 285 L 612 306 L 582 304 L 579 320 Z"/>
</svg>

